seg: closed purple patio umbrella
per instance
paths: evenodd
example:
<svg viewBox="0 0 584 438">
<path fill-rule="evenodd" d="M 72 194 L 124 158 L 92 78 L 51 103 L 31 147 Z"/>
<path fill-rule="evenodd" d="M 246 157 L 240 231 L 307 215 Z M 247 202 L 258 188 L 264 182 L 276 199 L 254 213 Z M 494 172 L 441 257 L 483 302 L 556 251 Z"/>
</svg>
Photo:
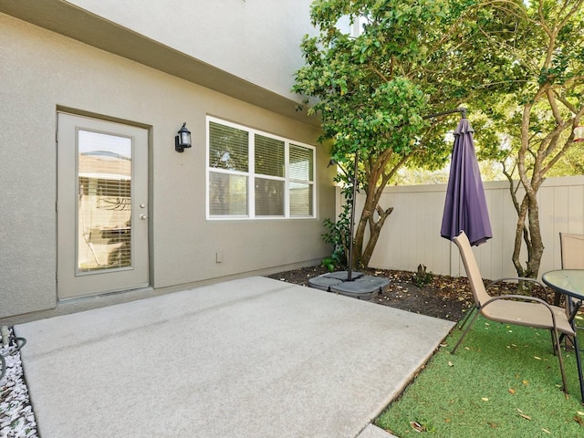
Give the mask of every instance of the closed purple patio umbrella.
<svg viewBox="0 0 584 438">
<path fill-rule="evenodd" d="M 452 240 L 464 231 L 471 245 L 480 245 L 493 237 L 493 232 L 476 161 L 473 132 L 465 117 L 454 131 L 454 149 L 440 234 Z"/>
</svg>

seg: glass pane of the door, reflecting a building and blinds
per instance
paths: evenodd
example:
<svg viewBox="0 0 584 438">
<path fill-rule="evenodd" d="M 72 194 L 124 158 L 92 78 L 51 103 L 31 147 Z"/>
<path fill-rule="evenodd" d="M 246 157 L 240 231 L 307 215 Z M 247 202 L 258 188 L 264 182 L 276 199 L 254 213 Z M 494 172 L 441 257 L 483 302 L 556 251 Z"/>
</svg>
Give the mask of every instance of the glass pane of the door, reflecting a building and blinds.
<svg viewBox="0 0 584 438">
<path fill-rule="evenodd" d="M 131 139 L 78 131 L 78 272 L 131 265 Z"/>
</svg>

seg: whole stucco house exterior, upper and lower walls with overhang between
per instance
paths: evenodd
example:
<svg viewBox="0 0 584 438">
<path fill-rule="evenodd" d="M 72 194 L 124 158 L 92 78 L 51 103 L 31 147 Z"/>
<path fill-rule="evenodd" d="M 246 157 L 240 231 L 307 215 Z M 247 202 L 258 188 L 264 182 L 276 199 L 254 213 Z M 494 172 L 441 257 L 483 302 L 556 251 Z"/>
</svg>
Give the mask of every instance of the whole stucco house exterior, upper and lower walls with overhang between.
<svg viewBox="0 0 584 438">
<path fill-rule="evenodd" d="M 289 89 L 308 0 L 0 1 L 0 318 L 46 318 L 317 264 L 335 212 L 317 147 L 316 217 L 205 216 L 207 115 L 317 145 Z M 278 7 L 276 7 L 276 4 Z M 57 111 L 149 132 L 149 287 L 57 298 Z M 193 148 L 174 151 L 183 121 Z M 217 254 L 221 263 L 217 263 Z"/>
</svg>

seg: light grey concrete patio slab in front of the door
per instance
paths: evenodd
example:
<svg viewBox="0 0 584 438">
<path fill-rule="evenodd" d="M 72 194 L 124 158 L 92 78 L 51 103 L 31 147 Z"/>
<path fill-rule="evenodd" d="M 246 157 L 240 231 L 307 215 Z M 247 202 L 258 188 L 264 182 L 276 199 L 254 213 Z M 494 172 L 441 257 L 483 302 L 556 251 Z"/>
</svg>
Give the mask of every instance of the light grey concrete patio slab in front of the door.
<svg viewBox="0 0 584 438">
<path fill-rule="evenodd" d="M 43 438 L 382 438 L 452 326 L 254 276 L 15 329 Z"/>
</svg>

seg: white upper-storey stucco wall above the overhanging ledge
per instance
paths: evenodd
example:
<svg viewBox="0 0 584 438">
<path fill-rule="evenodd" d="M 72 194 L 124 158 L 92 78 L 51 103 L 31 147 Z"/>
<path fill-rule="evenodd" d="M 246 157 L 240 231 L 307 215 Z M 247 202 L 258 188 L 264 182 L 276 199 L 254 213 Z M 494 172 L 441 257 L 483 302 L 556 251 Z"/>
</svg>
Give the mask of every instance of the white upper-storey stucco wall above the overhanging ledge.
<svg viewBox="0 0 584 438">
<path fill-rule="evenodd" d="M 285 96 L 303 64 L 302 36 L 315 33 L 312 0 L 68 3 Z"/>
</svg>

